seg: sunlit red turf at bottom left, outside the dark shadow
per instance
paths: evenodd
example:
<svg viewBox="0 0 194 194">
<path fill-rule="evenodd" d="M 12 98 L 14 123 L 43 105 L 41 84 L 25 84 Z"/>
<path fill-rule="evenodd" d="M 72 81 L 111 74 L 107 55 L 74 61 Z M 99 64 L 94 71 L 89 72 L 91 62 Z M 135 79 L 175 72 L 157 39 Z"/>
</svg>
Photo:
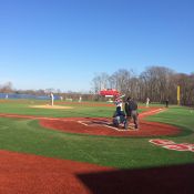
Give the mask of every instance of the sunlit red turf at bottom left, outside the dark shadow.
<svg viewBox="0 0 194 194">
<path fill-rule="evenodd" d="M 90 194 L 78 174 L 108 170 L 113 169 L 0 151 L 0 194 Z"/>
</svg>

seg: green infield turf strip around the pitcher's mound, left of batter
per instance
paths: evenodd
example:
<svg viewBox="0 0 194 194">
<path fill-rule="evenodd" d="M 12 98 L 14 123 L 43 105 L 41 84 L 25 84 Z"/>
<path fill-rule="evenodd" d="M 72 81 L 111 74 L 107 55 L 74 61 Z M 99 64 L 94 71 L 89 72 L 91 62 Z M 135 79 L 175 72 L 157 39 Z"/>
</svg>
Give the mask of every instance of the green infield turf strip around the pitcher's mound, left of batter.
<svg viewBox="0 0 194 194">
<path fill-rule="evenodd" d="M 7 101 L 0 102 L 0 113 L 14 113 L 14 114 L 28 114 L 35 116 L 48 116 L 48 118 L 103 118 L 103 116 L 112 116 L 114 106 L 103 106 L 103 103 L 99 103 L 96 106 L 92 104 L 95 103 L 62 103 L 55 102 L 55 105 L 71 106 L 73 109 L 35 109 L 30 108 L 31 105 L 45 105 L 48 101 L 31 101 L 31 100 L 16 100 L 16 101 Z"/>
</svg>

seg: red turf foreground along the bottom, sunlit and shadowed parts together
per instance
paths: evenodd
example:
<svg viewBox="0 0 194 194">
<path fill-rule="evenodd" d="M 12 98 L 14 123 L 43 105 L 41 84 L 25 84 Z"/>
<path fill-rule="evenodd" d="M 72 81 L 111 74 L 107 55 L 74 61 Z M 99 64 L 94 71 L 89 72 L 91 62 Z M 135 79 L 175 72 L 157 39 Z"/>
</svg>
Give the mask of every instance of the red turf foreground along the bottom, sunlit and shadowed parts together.
<svg viewBox="0 0 194 194">
<path fill-rule="evenodd" d="M 191 194 L 194 164 L 114 170 L 0 151 L 0 194 Z"/>
</svg>

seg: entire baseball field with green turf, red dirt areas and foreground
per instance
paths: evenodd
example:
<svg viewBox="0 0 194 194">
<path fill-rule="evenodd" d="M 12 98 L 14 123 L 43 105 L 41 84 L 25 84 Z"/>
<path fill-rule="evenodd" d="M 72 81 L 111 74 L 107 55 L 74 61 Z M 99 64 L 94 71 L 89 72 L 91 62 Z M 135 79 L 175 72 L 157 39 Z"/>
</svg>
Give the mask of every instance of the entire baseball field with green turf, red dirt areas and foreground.
<svg viewBox="0 0 194 194">
<path fill-rule="evenodd" d="M 194 110 L 139 104 L 139 130 L 113 104 L 0 100 L 0 194 L 190 194 Z"/>
</svg>

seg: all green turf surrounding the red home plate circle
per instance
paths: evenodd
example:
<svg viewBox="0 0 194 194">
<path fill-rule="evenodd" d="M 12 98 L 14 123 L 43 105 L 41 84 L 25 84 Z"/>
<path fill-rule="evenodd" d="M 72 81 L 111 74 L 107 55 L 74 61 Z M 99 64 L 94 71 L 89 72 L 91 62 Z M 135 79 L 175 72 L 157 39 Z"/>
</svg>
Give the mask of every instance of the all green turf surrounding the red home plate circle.
<svg viewBox="0 0 194 194">
<path fill-rule="evenodd" d="M 110 116 L 114 108 L 72 104 L 73 110 L 29 109 L 30 101 L 0 103 L 0 113 L 42 116 Z M 43 103 L 38 102 L 38 103 Z M 147 120 L 176 125 L 190 133 L 162 136 L 176 143 L 194 143 L 194 111 L 171 106 L 166 112 Z M 109 137 L 69 134 L 48 130 L 37 120 L 0 118 L 0 149 L 95 163 L 119 169 L 166 166 L 194 163 L 194 152 L 170 151 L 149 142 L 151 137 Z"/>
</svg>

